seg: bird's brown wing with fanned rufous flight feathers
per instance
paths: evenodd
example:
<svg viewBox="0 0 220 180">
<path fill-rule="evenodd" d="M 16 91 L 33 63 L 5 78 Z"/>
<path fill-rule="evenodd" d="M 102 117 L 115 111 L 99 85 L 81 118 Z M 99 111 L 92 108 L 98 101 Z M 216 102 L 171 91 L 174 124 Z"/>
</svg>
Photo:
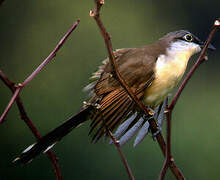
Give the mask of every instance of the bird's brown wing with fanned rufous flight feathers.
<svg viewBox="0 0 220 180">
<path fill-rule="evenodd" d="M 145 47 L 118 50 L 115 54 L 119 72 L 131 90 L 142 99 L 144 90 L 154 79 L 156 58 L 149 56 Z M 93 141 L 106 134 L 106 127 L 114 131 L 137 111 L 135 103 L 112 75 L 112 67 L 108 60 L 96 73 L 96 77 L 98 76 L 99 79 L 93 83 L 94 94 L 91 100 L 100 104 L 100 108 L 91 117 L 93 121 L 90 133 L 94 132 Z"/>
</svg>

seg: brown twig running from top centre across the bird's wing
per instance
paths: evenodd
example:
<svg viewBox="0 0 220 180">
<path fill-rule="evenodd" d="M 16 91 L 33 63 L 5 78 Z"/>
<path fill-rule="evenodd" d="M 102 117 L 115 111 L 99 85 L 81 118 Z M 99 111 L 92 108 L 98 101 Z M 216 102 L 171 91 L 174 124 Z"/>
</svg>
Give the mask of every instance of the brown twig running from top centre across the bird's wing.
<svg viewBox="0 0 220 180">
<path fill-rule="evenodd" d="M 110 35 L 108 34 L 108 32 L 106 31 L 101 18 L 100 18 L 100 10 L 101 10 L 101 6 L 104 4 L 104 0 L 94 0 L 95 1 L 95 9 L 90 11 L 90 16 L 93 17 L 100 29 L 100 32 L 104 38 L 105 41 L 105 45 L 109 54 L 109 59 L 110 62 L 112 64 L 113 70 L 116 74 L 116 77 L 118 78 L 119 83 L 121 84 L 121 86 L 126 90 L 126 92 L 128 93 L 128 95 L 132 98 L 132 100 L 138 105 L 138 107 L 145 113 L 148 114 L 149 110 L 148 108 L 141 102 L 139 101 L 139 99 L 134 95 L 134 93 L 130 90 L 130 88 L 128 87 L 127 83 L 124 81 L 124 79 L 122 78 L 122 76 L 120 75 L 120 72 L 118 71 L 118 67 L 117 67 L 117 63 L 115 61 L 115 56 L 113 54 L 113 49 L 112 49 L 112 44 L 111 44 L 111 38 Z M 152 133 L 157 132 L 158 128 L 157 128 L 157 124 L 155 122 L 155 120 L 150 120 L 150 129 L 152 131 Z M 157 142 L 163 152 L 163 155 L 165 156 L 166 153 L 166 144 L 164 141 L 164 138 L 162 136 L 162 134 L 159 132 L 156 136 Z M 172 161 L 172 163 L 170 163 L 171 171 L 173 172 L 173 174 L 176 176 L 177 179 L 182 180 L 184 179 L 183 174 L 181 173 L 181 171 L 178 169 L 178 167 L 176 166 L 175 162 Z"/>
</svg>

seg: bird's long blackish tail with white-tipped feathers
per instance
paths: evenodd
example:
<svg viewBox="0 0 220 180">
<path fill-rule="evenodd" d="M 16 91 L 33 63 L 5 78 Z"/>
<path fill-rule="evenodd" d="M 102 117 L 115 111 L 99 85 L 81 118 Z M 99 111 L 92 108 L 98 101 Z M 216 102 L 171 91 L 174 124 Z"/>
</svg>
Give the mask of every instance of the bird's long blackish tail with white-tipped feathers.
<svg viewBox="0 0 220 180">
<path fill-rule="evenodd" d="M 43 136 L 38 142 L 26 148 L 13 162 L 25 164 L 31 162 L 41 152 L 47 152 L 74 128 L 87 121 L 92 108 L 92 106 L 88 106 L 76 115 L 70 117 L 63 124 Z"/>
</svg>

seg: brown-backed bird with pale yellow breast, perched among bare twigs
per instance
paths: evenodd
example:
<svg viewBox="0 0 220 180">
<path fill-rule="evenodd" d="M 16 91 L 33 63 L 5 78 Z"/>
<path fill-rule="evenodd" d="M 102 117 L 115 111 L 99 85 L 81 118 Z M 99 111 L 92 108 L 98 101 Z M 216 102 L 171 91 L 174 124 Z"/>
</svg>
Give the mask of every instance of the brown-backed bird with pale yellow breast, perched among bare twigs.
<svg viewBox="0 0 220 180">
<path fill-rule="evenodd" d="M 155 113 L 154 110 L 181 80 L 190 57 L 203 47 L 204 43 L 194 34 L 178 30 L 150 45 L 115 50 L 114 56 L 118 70 L 131 91 Z M 208 49 L 215 48 L 209 44 Z M 26 148 L 14 162 L 31 162 L 87 120 L 91 120 L 89 134 L 93 142 L 107 137 L 107 130 L 115 132 L 121 145 L 136 133 L 135 144 L 143 140 L 152 114 L 143 114 L 132 101 L 120 85 L 109 58 L 90 79 L 92 82 L 84 88 L 89 100 L 84 102 L 80 111 Z"/>
</svg>

